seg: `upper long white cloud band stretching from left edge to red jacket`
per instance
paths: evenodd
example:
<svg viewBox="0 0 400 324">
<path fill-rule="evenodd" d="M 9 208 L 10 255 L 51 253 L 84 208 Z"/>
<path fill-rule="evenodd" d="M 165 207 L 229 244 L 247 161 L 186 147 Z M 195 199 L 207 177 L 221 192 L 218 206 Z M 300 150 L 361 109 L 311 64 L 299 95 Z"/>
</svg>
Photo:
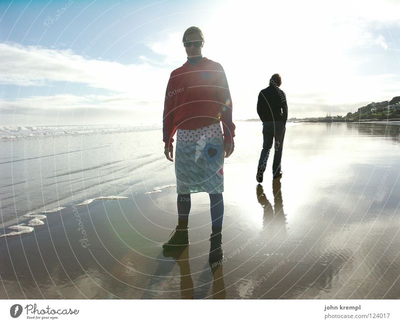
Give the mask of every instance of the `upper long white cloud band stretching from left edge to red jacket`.
<svg viewBox="0 0 400 324">
<path fill-rule="evenodd" d="M 27 86 L 67 81 L 137 94 L 141 98 L 151 98 L 155 89 L 165 91 L 170 73 L 146 62 L 122 64 L 86 59 L 70 49 L 48 49 L 16 43 L 1 43 L 0 59 L 0 83 Z"/>
</svg>

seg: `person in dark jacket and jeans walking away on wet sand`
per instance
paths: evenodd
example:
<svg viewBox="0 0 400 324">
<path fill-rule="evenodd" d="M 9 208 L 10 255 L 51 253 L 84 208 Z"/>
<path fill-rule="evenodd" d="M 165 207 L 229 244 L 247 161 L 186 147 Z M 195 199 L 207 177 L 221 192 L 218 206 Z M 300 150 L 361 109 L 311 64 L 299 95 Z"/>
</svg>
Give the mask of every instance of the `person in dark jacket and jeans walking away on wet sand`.
<svg viewBox="0 0 400 324">
<path fill-rule="evenodd" d="M 287 120 L 286 94 L 279 87 L 282 83 L 279 74 L 273 74 L 269 79 L 269 86 L 262 89 L 258 94 L 257 113 L 262 121 L 262 150 L 257 167 L 257 182 L 262 182 L 263 173 L 268 160 L 269 152 L 274 144 L 274 155 L 272 164 L 273 179 L 282 176 L 280 161 Z"/>
</svg>

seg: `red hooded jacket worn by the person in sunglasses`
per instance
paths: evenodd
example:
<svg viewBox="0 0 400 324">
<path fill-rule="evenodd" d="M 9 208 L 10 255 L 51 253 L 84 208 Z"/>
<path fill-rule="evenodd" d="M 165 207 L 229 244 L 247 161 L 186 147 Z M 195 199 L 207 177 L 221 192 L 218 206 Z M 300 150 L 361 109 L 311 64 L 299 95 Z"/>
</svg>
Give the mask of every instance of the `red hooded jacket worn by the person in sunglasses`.
<svg viewBox="0 0 400 324">
<path fill-rule="evenodd" d="M 224 143 L 233 143 L 232 101 L 221 64 L 206 57 L 173 70 L 165 91 L 163 142 L 172 146 L 177 128 L 195 129 L 222 122 Z"/>
</svg>

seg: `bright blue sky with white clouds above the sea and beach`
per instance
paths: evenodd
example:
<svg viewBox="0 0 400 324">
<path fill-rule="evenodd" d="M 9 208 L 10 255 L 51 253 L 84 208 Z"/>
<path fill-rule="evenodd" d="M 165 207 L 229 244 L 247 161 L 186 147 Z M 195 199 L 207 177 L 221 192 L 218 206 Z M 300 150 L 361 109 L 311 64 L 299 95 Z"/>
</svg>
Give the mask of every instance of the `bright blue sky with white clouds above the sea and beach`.
<svg viewBox="0 0 400 324">
<path fill-rule="evenodd" d="M 288 117 L 400 95 L 400 1 L 0 0 L 0 126 L 161 124 L 189 26 L 225 70 L 233 119 L 279 73 Z"/>
</svg>

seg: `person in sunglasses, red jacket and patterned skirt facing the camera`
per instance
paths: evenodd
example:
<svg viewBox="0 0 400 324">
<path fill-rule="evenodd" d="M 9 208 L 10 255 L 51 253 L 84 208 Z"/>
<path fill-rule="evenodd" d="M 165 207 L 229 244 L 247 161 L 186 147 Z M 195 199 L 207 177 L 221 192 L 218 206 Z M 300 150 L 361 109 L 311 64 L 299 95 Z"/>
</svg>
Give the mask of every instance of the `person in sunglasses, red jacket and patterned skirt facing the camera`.
<svg viewBox="0 0 400 324">
<path fill-rule="evenodd" d="M 176 132 L 178 225 L 162 247 L 189 243 L 190 194 L 207 192 L 212 221 L 209 260 L 219 261 L 223 257 L 223 161 L 233 152 L 235 126 L 225 72 L 219 63 L 201 55 L 203 42 L 198 27 L 186 29 L 183 45 L 187 61 L 172 71 L 166 87 L 162 131 L 169 161 L 173 161 L 172 136 Z"/>
</svg>

